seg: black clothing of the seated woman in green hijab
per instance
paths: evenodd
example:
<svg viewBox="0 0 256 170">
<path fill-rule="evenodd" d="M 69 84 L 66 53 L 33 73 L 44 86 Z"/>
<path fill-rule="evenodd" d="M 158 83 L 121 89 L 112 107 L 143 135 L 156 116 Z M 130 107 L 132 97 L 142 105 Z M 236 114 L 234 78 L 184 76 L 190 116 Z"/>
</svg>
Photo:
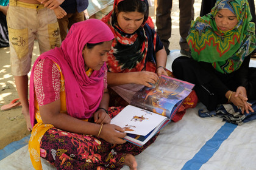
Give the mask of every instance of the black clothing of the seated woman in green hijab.
<svg viewBox="0 0 256 170">
<path fill-rule="evenodd" d="M 208 110 L 215 110 L 218 104 L 227 103 L 227 98 L 224 94 L 219 94 L 216 89 L 219 87 L 213 86 L 216 84 L 215 79 L 213 79 L 212 74 L 214 72 L 209 72 L 204 69 L 201 64 L 194 61 L 192 58 L 187 56 L 180 56 L 176 58 L 172 63 L 172 72 L 175 77 L 180 80 L 188 81 L 195 84 L 194 90 L 196 91 L 199 101 L 203 103 Z M 232 74 L 224 75 L 218 73 L 215 75 L 218 79 L 229 88 L 229 90 L 236 91 L 239 86 L 236 77 Z M 248 88 L 247 97 L 249 100 L 256 99 L 256 68 L 249 67 L 248 75 Z"/>
</svg>

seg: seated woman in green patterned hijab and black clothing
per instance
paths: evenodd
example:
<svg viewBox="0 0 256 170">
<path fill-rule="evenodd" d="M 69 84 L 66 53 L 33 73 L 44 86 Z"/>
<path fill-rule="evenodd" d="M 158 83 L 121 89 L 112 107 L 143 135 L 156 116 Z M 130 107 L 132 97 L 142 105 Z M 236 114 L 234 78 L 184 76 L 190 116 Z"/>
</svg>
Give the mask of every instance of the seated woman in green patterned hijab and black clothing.
<svg viewBox="0 0 256 170">
<path fill-rule="evenodd" d="M 247 0 L 216 1 L 211 13 L 191 22 L 187 42 L 192 58 L 172 64 L 177 78 L 196 84 L 194 90 L 207 109 L 233 103 L 241 112 L 254 111 L 256 68 L 249 68 L 255 49 L 255 24 Z"/>
</svg>

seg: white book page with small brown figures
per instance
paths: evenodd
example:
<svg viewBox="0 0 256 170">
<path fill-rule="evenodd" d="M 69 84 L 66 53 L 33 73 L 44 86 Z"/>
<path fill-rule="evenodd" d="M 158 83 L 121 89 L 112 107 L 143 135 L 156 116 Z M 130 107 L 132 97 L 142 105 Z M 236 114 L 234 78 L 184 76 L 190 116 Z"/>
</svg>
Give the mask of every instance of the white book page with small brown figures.
<svg viewBox="0 0 256 170">
<path fill-rule="evenodd" d="M 167 118 L 162 115 L 128 105 L 112 118 L 111 124 L 126 129 L 126 133 L 145 136 L 165 119 Z"/>
</svg>

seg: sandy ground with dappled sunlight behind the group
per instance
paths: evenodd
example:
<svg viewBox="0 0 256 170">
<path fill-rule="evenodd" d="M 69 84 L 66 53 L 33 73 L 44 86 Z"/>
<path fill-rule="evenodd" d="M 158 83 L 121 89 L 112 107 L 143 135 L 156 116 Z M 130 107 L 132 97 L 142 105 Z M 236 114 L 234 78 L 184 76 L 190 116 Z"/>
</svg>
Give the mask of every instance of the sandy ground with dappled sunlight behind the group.
<svg viewBox="0 0 256 170">
<path fill-rule="evenodd" d="M 154 0 L 151 0 L 150 15 L 153 21 L 154 16 Z M 195 0 L 194 10 L 195 18 L 199 16 L 201 8 L 201 0 Z M 172 8 L 172 35 L 169 39 L 170 50 L 180 49 L 179 46 L 179 0 L 173 1 Z M 39 56 L 38 43 L 35 41 L 32 61 Z M 13 99 L 18 98 L 16 92 L 13 75 L 10 72 L 10 54 L 9 47 L 0 48 L 0 107 L 4 104 L 10 103 Z M 29 135 L 27 131 L 26 121 L 21 114 L 21 107 L 11 110 L 0 110 L 0 149 L 4 148 L 12 141 L 21 140 L 21 138 Z"/>
</svg>

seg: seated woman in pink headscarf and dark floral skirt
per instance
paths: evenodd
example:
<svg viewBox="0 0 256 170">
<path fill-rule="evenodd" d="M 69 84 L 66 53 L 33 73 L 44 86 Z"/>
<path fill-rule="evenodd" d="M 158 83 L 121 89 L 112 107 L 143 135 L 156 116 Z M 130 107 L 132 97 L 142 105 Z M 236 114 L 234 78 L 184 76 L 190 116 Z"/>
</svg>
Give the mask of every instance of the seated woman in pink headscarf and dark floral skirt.
<svg viewBox="0 0 256 170">
<path fill-rule="evenodd" d="M 122 109 L 108 108 L 107 52 L 113 33 L 98 19 L 74 24 L 62 46 L 43 53 L 30 77 L 30 159 L 57 169 L 136 169 L 138 147 L 125 143 L 123 129 L 110 124 Z"/>
</svg>

